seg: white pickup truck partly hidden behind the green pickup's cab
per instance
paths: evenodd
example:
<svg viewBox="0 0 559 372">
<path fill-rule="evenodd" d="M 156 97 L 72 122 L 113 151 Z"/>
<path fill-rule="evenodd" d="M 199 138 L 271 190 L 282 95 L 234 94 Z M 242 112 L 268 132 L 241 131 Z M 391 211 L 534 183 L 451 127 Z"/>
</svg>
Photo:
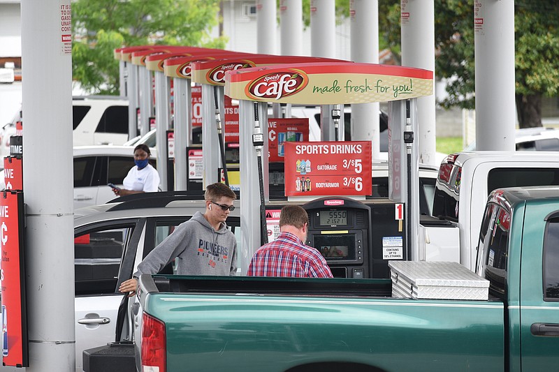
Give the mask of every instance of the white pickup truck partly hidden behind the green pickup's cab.
<svg viewBox="0 0 559 372">
<path fill-rule="evenodd" d="M 451 221 L 458 230 L 460 264 L 473 270 L 487 197 L 495 188 L 559 185 L 559 156 L 545 151 L 472 151 L 442 161 L 435 186 L 433 216 Z M 448 235 L 452 235 L 449 230 Z M 426 247 L 440 239 L 427 237 Z M 433 243 L 429 243 L 429 241 Z M 458 244 L 456 244 L 458 243 Z"/>
</svg>

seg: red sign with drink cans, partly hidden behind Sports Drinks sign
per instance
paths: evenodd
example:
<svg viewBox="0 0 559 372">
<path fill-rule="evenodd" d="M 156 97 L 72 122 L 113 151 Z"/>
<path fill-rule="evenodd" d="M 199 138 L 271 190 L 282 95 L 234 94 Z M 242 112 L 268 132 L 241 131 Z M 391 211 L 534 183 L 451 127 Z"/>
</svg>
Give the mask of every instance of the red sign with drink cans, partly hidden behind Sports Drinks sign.
<svg viewBox="0 0 559 372">
<path fill-rule="evenodd" d="M 309 118 L 268 119 L 268 161 L 282 162 L 285 142 L 307 142 Z"/>
</svg>

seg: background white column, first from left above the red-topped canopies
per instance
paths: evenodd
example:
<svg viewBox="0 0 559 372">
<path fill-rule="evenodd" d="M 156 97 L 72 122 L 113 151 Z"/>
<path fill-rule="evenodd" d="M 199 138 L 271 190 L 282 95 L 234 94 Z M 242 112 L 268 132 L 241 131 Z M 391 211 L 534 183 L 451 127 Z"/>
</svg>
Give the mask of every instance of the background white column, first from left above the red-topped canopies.
<svg viewBox="0 0 559 372">
<path fill-rule="evenodd" d="M 256 0 L 256 51 L 275 54 L 277 10 L 275 0 Z"/>
</svg>

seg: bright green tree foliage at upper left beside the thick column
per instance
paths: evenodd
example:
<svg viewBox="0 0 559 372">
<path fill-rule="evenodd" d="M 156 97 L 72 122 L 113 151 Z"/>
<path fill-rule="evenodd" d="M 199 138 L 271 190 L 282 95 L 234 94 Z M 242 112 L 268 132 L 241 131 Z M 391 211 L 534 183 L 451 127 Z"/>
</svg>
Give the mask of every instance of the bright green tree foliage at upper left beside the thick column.
<svg viewBox="0 0 559 372">
<path fill-rule="evenodd" d="M 72 2 L 73 78 L 95 94 L 118 94 L 123 45 L 224 47 L 207 30 L 217 24 L 219 0 L 78 0 Z"/>
</svg>

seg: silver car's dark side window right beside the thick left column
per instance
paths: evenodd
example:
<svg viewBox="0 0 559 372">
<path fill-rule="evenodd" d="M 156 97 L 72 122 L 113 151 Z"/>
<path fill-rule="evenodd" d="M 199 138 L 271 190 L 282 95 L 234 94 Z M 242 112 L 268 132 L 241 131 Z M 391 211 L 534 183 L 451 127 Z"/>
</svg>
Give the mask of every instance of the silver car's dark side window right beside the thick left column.
<svg viewBox="0 0 559 372">
<path fill-rule="evenodd" d="M 134 225 L 89 230 L 74 239 L 75 295 L 114 294 L 122 252 Z"/>
</svg>

